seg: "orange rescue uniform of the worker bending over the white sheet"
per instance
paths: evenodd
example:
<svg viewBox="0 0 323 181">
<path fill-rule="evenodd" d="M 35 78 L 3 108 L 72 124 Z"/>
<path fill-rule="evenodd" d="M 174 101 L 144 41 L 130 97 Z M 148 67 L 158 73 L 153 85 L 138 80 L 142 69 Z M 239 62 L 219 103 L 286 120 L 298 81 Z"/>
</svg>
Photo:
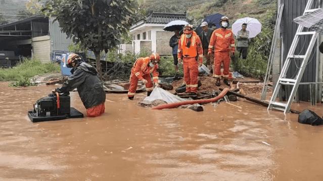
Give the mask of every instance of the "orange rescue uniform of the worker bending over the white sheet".
<svg viewBox="0 0 323 181">
<path fill-rule="evenodd" d="M 151 80 L 150 74 L 153 74 L 153 80 L 154 82 L 158 82 L 158 65 L 156 64 L 154 67 L 149 66 L 150 58 L 138 58 L 136 59 L 135 63 L 133 64 L 133 67 L 131 69 L 130 74 L 130 86 L 128 91 L 128 97 L 133 97 L 135 95 L 135 91 L 137 89 L 138 81 L 146 79 L 148 83 L 146 84 L 146 90 L 148 92 L 153 91 L 154 85 Z"/>
</svg>

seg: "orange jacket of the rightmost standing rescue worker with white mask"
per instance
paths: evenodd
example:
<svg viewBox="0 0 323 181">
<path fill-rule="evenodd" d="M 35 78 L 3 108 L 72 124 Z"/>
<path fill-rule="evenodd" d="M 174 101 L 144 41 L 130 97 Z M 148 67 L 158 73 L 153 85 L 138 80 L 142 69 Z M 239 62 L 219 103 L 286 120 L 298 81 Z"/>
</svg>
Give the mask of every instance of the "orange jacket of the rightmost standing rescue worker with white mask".
<svg viewBox="0 0 323 181">
<path fill-rule="evenodd" d="M 235 52 L 235 38 L 229 29 L 218 28 L 213 31 L 209 51 L 214 48 L 214 52 L 230 51 Z"/>
</svg>

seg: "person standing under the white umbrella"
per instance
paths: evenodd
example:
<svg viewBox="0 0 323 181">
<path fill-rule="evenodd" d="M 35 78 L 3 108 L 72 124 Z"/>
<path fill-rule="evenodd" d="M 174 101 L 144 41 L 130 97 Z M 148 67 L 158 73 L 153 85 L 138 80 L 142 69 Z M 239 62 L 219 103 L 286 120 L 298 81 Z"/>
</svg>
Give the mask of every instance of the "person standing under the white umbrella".
<svg viewBox="0 0 323 181">
<path fill-rule="evenodd" d="M 242 29 L 238 32 L 237 35 L 237 50 L 239 51 L 239 58 L 246 59 L 248 53 L 248 42 L 249 42 L 249 31 L 247 30 L 247 24 L 242 24 Z"/>
</svg>

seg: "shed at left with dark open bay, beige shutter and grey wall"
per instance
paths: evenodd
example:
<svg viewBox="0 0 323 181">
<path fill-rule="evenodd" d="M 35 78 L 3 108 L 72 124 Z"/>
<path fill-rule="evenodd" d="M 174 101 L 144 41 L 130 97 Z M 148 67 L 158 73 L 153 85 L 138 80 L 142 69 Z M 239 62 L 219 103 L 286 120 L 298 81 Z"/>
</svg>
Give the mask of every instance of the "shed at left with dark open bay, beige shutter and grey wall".
<svg viewBox="0 0 323 181">
<path fill-rule="evenodd" d="M 0 25 L 0 51 L 14 51 L 15 55 L 38 58 L 47 63 L 68 52 L 72 43 L 53 19 L 33 16 Z"/>
</svg>

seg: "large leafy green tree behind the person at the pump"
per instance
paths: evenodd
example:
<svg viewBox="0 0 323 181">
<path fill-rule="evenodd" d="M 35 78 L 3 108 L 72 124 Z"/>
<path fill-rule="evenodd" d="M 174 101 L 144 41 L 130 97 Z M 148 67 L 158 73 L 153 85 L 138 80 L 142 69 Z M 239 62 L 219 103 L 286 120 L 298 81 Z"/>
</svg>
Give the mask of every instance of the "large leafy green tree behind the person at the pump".
<svg viewBox="0 0 323 181">
<path fill-rule="evenodd" d="M 100 52 L 119 44 L 121 35 L 136 20 L 136 7 L 135 0 L 52 0 L 41 11 L 54 17 L 74 43 L 95 53 L 102 78 Z"/>
</svg>

